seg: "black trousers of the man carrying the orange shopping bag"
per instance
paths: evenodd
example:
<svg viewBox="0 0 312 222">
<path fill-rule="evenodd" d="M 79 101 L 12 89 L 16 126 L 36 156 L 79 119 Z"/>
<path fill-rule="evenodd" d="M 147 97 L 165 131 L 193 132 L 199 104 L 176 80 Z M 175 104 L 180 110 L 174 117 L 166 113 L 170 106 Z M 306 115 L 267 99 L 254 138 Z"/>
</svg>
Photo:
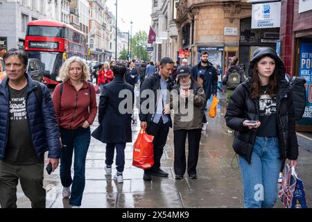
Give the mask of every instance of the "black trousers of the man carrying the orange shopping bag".
<svg viewBox="0 0 312 222">
<path fill-rule="evenodd" d="M 169 133 L 169 123 L 163 123 L 162 118 L 160 118 L 159 123 L 151 122 L 149 124 L 146 133 L 154 136 L 154 165 L 150 169 L 145 170 L 146 173 L 150 173 L 160 167 L 160 159 L 162 158 L 162 153 L 164 153 L 164 146 L 166 145 Z"/>
</svg>

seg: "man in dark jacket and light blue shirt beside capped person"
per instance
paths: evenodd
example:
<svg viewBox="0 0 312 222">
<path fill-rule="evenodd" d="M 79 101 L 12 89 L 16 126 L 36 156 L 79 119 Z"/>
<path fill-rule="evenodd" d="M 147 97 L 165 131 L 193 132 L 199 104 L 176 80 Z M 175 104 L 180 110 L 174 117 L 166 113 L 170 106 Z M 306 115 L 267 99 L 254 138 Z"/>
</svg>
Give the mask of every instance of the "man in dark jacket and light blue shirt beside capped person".
<svg viewBox="0 0 312 222">
<path fill-rule="evenodd" d="M 174 62 L 171 58 L 162 58 L 159 73 L 146 76 L 141 86 L 141 110 L 139 118 L 141 128 L 148 135 L 153 135 L 154 165 L 144 171 L 144 180 L 151 180 L 151 175 L 167 177 L 168 173 L 160 169 L 160 159 L 166 145 L 169 127 L 172 127 L 170 117 L 169 92 L 173 87 L 170 76 Z M 152 95 L 148 92 L 153 91 Z M 146 94 L 148 94 L 146 96 Z M 154 105 L 150 107 L 150 105 Z"/>
</svg>

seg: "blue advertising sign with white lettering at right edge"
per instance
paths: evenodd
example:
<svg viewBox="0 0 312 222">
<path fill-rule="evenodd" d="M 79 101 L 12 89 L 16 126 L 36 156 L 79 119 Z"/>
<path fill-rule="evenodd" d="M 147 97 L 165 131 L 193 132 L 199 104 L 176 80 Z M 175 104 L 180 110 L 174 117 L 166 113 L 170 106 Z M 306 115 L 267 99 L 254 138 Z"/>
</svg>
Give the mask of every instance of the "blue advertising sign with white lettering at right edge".
<svg viewBox="0 0 312 222">
<path fill-rule="evenodd" d="M 302 42 L 299 76 L 306 79 L 306 109 L 299 125 L 312 126 L 312 42 Z"/>
</svg>

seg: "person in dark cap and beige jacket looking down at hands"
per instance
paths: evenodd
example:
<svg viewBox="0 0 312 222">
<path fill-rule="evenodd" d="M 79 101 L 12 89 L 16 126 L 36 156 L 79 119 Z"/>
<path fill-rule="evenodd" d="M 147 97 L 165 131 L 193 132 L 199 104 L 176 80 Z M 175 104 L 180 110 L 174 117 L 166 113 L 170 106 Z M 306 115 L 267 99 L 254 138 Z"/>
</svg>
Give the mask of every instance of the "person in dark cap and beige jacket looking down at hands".
<svg viewBox="0 0 312 222">
<path fill-rule="evenodd" d="M 191 69 L 177 68 L 179 79 L 171 94 L 171 108 L 174 110 L 173 143 L 175 179 L 181 180 L 185 170 L 189 178 L 197 178 L 197 162 L 202 135 L 202 108 L 205 106 L 204 89 L 191 78 Z M 185 141 L 188 137 L 189 155 L 185 157 Z"/>
</svg>

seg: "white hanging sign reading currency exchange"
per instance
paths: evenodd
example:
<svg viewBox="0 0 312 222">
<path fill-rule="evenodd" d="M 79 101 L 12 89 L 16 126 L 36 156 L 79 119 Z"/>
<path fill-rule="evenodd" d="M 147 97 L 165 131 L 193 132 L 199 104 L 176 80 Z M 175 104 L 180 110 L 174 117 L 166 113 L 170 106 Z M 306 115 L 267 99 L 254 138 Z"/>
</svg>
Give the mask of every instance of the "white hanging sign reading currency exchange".
<svg viewBox="0 0 312 222">
<path fill-rule="evenodd" d="M 280 1 L 252 5 L 252 28 L 276 28 L 280 26 L 280 22 Z"/>
</svg>

